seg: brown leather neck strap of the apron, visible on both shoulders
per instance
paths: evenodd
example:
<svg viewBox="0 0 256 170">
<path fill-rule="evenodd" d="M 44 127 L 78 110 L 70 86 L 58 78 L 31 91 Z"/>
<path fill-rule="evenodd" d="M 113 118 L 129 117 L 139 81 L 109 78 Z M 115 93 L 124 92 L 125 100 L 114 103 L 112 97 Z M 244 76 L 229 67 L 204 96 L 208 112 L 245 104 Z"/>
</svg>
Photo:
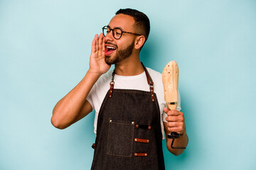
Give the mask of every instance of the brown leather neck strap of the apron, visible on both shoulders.
<svg viewBox="0 0 256 170">
<path fill-rule="evenodd" d="M 150 91 L 151 100 L 154 102 L 154 82 L 152 81 L 152 79 L 151 79 L 151 77 L 149 75 L 149 72 L 147 71 L 146 67 L 144 67 L 143 63 L 142 63 L 142 66 L 143 66 L 143 68 L 145 70 L 146 81 L 149 84 L 149 91 Z M 114 89 L 114 74 L 115 74 L 115 72 L 113 71 L 112 79 L 110 81 L 110 93 L 109 93 L 109 97 L 110 98 L 112 97 L 112 92 L 113 92 L 113 89 Z"/>
</svg>

